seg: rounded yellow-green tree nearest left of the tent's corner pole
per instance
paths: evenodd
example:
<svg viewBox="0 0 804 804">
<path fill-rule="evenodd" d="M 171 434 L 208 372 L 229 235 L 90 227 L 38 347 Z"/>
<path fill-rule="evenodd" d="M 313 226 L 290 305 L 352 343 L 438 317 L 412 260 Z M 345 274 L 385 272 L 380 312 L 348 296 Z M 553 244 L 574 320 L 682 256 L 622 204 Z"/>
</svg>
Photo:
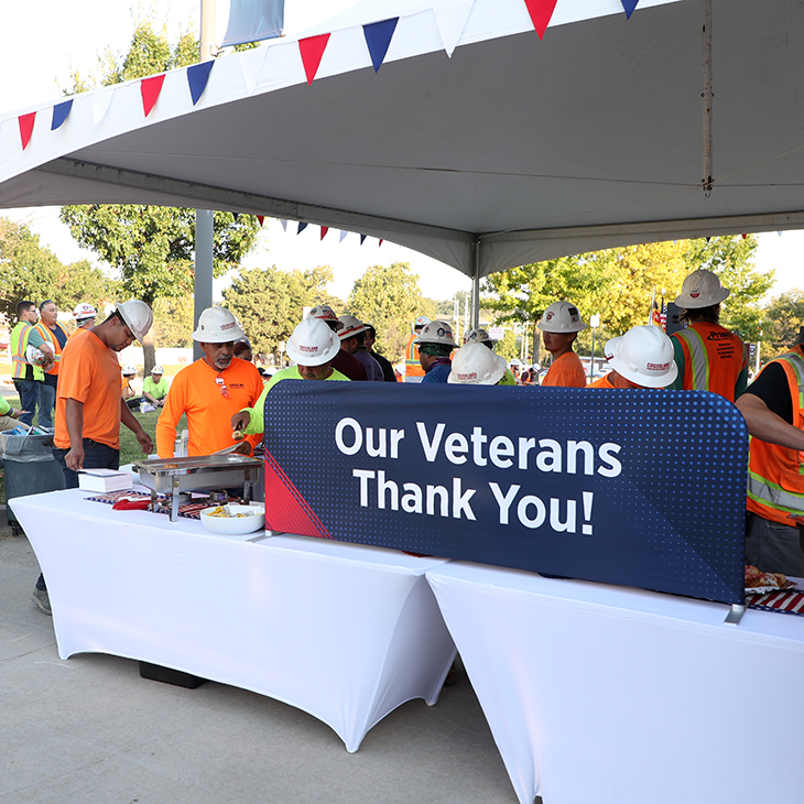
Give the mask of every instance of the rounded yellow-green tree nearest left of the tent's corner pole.
<svg viewBox="0 0 804 804">
<path fill-rule="evenodd" d="M 408 262 L 367 268 L 349 294 L 349 312 L 374 326 L 374 348 L 391 362 L 402 359 L 422 307 L 419 276 L 411 273 Z"/>
</svg>

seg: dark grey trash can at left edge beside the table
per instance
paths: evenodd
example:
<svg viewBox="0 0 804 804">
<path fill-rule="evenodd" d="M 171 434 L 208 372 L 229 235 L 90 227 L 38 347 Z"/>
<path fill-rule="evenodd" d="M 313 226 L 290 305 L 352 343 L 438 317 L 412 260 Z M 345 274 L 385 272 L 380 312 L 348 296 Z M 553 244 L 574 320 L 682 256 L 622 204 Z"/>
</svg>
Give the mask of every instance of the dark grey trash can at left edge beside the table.
<svg viewBox="0 0 804 804">
<path fill-rule="evenodd" d="M 6 517 L 11 532 L 22 532 L 9 502 L 14 497 L 41 495 L 64 488 L 64 471 L 53 457 L 53 435 L 0 433 L 4 480 Z"/>
</svg>

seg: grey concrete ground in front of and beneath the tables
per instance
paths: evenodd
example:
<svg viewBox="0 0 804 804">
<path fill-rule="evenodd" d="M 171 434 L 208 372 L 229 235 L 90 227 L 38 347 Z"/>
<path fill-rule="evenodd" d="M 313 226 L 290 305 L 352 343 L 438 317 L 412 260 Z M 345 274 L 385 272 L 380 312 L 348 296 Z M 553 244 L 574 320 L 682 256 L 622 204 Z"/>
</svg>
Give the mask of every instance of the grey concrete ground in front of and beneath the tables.
<svg viewBox="0 0 804 804">
<path fill-rule="evenodd" d="M 0 804 L 517 804 L 463 667 L 346 752 L 328 726 L 254 693 L 58 658 L 39 574 L 0 511 Z M 539 801 L 539 800 L 537 800 Z"/>
</svg>

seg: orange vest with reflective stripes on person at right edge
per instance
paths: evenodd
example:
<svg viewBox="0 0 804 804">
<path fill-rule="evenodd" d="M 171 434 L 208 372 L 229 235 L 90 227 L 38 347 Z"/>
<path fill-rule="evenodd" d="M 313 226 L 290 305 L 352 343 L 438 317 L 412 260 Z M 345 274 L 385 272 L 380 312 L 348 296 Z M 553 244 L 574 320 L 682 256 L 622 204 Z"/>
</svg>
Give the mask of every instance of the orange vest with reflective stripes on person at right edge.
<svg viewBox="0 0 804 804">
<path fill-rule="evenodd" d="M 789 351 L 771 362 L 779 363 L 784 369 L 793 401 L 793 426 L 804 430 L 804 357 L 801 349 Z M 797 449 L 751 438 L 746 503 L 748 510 L 772 522 L 793 525 L 787 514 L 804 513 L 802 460 L 804 453 Z"/>
</svg>

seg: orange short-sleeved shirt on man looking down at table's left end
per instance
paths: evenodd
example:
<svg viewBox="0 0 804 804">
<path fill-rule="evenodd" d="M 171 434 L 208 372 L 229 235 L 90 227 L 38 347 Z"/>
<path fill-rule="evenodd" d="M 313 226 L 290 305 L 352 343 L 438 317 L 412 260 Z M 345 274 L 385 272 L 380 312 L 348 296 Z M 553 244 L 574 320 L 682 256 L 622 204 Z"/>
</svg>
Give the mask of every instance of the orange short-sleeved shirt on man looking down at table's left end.
<svg viewBox="0 0 804 804">
<path fill-rule="evenodd" d="M 120 363 L 97 335 L 68 340 L 62 352 L 53 443 L 69 449 L 67 400 L 84 405 L 83 437 L 120 449 Z"/>
</svg>

